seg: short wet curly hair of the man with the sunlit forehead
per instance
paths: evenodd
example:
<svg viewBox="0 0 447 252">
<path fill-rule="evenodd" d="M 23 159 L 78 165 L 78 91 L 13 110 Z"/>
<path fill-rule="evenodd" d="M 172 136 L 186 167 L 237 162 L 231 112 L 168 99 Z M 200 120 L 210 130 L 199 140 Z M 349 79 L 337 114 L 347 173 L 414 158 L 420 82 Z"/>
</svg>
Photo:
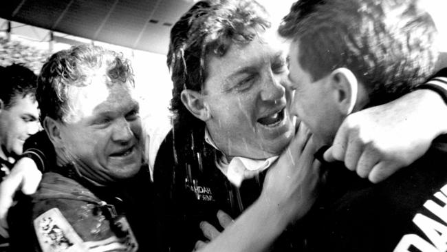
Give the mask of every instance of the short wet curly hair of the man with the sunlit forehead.
<svg viewBox="0 0 447 252">
<path fill-rule="evenodd" d="M 129 61 L 111 50 L 77 45 L 50 56 L 37 80 L 36 99 L 41 109 L 41 123 L 46 116 L 64 123 L 70 112 L 70 88 L 90 85 L 98 71 L 105 72 L 107 84 L 119 81 L 135 85 Z"/>
</svg>

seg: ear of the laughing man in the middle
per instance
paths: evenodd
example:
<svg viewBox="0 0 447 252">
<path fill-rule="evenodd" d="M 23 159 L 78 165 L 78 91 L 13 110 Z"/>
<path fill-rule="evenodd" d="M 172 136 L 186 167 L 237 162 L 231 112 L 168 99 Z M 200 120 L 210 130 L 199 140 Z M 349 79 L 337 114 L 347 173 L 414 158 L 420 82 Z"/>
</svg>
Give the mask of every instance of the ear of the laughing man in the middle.
<svg viewBox="0 0 447 252">
<path fill-rule="evenodd" d="M 206 122 L 210 119 L 210 111 L 204 103 L 204 96 L 194 90 L 183 90 L 180 95 L 182 103 L 195 117 Z"/>
</svg>

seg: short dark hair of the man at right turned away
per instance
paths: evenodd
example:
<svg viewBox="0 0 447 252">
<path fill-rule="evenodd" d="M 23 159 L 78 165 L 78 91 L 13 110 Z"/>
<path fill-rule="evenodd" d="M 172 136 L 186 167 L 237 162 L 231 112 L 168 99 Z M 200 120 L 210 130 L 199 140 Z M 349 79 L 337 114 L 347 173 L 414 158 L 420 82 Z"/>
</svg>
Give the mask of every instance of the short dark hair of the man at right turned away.
<svg viewBox="0 0 447 252">
<path fill-rule="evenodd" d="M 301 0 L 279 34 L 298 42 L 298 62 L 314 81 L 347 67 L 370 105 L 402 96 L 433 72 L 436 29 L 416 0 Z"/>
</svg>

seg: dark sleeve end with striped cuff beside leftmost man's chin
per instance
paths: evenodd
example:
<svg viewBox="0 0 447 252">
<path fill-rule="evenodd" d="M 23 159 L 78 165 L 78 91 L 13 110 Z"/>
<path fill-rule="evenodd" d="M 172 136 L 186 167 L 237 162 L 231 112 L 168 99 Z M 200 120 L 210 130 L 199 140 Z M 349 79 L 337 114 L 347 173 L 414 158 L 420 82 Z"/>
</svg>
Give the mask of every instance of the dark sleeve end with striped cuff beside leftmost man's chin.
<svg viewBox="0 0 447 252">
<path fill-rule="evenodd" d="M 53 144 L 45 131 L 37 132 L 25 141 L 22 156 L 31 158 L 42 172 L 45 167 L 56 163 Z"/>
</svg>

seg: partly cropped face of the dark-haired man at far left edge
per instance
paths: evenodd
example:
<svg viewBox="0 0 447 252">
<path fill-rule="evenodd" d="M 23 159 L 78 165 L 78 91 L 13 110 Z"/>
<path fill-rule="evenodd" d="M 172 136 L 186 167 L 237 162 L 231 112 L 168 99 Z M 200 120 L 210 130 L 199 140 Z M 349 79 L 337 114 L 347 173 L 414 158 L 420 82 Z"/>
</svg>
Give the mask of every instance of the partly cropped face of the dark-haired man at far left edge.
<svg viewBox="0 0 447 252">
<path fill-rule="evenodd" d="M 39 130 L 39 109 L 34 96 L 17 95 L 12 107 L 0 110 L 1 158 L 16 158 L 23 152 L 26 138 Z"/>
</svg>

